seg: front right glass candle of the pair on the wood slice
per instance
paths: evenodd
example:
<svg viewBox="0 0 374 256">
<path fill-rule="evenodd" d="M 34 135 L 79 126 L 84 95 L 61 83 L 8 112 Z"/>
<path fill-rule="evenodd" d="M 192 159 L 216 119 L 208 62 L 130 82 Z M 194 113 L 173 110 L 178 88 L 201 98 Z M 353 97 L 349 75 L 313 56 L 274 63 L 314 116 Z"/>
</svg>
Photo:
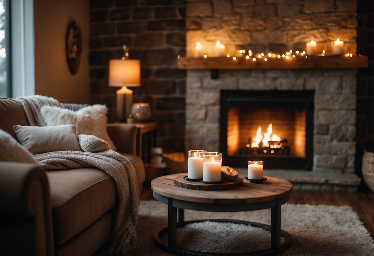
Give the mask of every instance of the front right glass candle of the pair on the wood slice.
<svg viewBox="0 0 374 256">
<path fill-rule="evenodd" d="M 203 181 L 221 181 L 222 153 L 203 153 Z"/>
</svg>

